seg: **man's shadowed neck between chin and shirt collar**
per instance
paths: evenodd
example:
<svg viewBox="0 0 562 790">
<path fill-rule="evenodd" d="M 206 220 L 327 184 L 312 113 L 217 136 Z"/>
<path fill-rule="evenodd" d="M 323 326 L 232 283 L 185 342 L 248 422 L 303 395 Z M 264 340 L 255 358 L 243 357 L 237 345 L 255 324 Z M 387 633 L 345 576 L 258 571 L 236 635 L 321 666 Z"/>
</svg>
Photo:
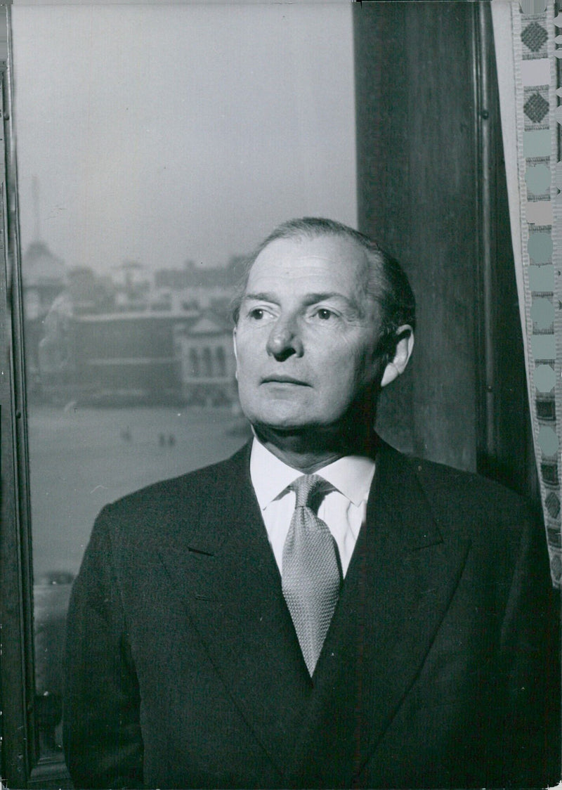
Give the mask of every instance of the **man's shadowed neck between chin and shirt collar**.
<svg viewBox="0 0 562 790">
<path fill-rule="evenodd" d="M 317 431 L 274 431 L 253 426 L 258 440 L 288 466 L 311 475 L 347 455 L 374 457 L 376 434 L 370 429 L 353 434 L 319 434 Z"/>
</svg>

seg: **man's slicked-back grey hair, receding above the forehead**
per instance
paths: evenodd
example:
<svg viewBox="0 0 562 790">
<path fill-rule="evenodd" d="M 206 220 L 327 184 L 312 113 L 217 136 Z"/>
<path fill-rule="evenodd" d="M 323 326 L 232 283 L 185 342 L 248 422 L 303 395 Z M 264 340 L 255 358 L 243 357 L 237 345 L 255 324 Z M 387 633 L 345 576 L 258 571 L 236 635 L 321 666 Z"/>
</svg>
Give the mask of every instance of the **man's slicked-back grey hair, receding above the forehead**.
<svg viewBox="0 0 562 790">
<path fill-rule="evenodd" d="M 320 217 L 303 216 L 283 222 L 249 254 L 230 303 L 234 324 L 238 323 L 250 270 L 265 247 L 277 239 L 316 239 L 319 236 L 349 239 L 365 250 L 370 264 L 367 292 L 380 305 L 382 312 L 380 342 L 389 344 L 388 351 L 392 351 L 399 326 L 408 324 L 415 328 L 415 298 L 406 273 L 399 262 L 381 250 L 369 236 L 341 222 Z"/>
</svg>

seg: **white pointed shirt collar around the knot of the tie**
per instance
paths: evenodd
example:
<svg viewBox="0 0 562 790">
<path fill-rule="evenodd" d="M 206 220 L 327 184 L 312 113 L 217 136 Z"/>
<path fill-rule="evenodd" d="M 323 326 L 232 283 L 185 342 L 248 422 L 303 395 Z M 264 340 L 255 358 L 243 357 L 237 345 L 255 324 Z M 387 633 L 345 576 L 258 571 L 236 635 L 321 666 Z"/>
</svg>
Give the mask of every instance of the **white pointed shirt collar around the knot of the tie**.
<svg viewBox="0 0 562 790">
<path fill-rule="evenodd" d="M 273 455 L 254 437 L 249 460 L 249 473 L 260 508 L 264 510 L 290 483 L 302 476 L 302 472 L 289 466 Z M 316 472 L 328 483 L 359 506 L 369 495 L 375 473 L 375 462 L 371 458 L 347 455 L 332 461 Z"/>
</svg>

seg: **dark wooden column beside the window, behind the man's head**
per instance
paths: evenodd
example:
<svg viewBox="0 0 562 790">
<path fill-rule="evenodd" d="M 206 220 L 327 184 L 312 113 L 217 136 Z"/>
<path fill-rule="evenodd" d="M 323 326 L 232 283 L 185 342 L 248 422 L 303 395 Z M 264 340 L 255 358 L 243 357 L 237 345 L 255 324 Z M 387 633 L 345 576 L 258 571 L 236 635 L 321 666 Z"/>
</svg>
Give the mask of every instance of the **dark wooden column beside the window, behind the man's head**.
<svg viewBox="0 0 562 790">
<path fill-rule="evenodd" d="M 418 299 L 411 369 L 384 391 L 379 430 L 403 450 L 526 489 L 488 4 L 362 2 L 354 36 L 359 228 L 403 263 Z"/>
</svg>

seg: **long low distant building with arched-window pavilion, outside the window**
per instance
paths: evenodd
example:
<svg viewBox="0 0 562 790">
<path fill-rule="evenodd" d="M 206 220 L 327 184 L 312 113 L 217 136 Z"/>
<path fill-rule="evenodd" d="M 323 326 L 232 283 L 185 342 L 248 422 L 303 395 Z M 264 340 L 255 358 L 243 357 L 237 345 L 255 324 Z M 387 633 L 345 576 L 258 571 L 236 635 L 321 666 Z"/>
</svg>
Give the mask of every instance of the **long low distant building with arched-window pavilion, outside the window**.
<svg viewBox="0 0 562 790">
<path fill-rule="evenodd" d="M 43 394 L 52 401 L 219 406 L 236 400 L 232 333 L 218 316 L 61 309 L 51 313 L 48 329 L 39 359 Z"/>
</svg>

